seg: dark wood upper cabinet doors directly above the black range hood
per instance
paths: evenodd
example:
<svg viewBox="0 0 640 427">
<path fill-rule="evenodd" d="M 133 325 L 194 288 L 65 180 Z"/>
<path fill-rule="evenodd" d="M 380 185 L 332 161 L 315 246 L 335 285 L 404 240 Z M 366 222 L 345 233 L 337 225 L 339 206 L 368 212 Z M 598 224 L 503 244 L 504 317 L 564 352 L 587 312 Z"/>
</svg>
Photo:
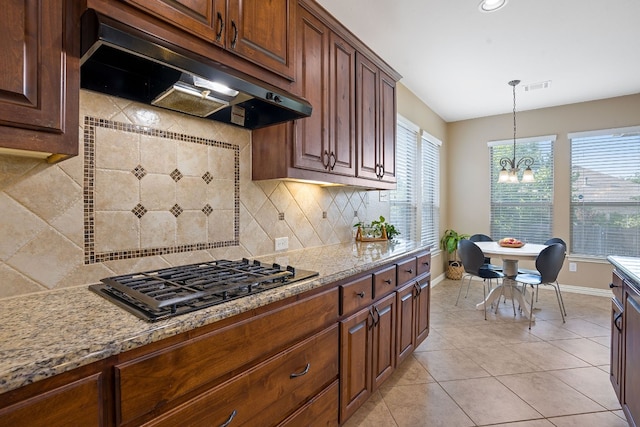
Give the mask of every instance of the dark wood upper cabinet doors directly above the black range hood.
<svg viewBox="0 0 640 427">
<path fill-rule="evenodd" d="M 293 80 L 295 0 L 122 0 Z"/>
</svg>

